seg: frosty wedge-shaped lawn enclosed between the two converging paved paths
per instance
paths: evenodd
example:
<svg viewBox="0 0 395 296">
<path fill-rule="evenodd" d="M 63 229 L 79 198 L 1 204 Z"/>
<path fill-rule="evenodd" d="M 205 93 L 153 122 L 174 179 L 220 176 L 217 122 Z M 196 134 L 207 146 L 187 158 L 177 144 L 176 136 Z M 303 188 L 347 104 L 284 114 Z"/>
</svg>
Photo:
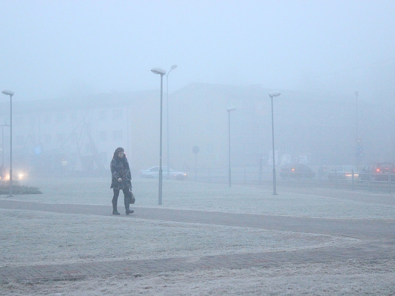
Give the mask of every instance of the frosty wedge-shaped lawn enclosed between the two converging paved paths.
<svg viewBox="0 0 395 296">
<path fill-rule="evenodd" d="M 122 216 L 0 209 L 0 267 L 200 257 L 345 245 L 353 238 Z"/>
</svg>

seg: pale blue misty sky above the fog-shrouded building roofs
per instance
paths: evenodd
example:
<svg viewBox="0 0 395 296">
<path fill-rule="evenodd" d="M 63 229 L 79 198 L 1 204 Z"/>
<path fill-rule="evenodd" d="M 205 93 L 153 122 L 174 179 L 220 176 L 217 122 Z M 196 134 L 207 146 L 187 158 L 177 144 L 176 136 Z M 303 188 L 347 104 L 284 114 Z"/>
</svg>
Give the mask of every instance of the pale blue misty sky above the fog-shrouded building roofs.
<svg viewBox="0 0 395 296">
<path fill-rule="evenodd" d="M 0 1 L 0 88 L 15 100 L 191 82 L 395 92 L 395 1 Z"/>
</svg>

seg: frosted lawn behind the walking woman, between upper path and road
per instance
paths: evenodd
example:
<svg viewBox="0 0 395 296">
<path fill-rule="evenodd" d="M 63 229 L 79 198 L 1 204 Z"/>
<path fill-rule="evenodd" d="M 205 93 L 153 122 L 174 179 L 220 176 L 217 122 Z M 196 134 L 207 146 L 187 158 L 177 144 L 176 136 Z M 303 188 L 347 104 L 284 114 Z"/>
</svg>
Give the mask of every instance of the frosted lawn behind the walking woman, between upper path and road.
<svg viewBox="0 0 395 296">
<path fill-rule="evenodd" d="M 112 189 L 109 178 L 37 178 L 22 184 L 39 187 L 41 195 L 20 195 L 13 199 L 49 203 L 83 203 L 111 205 Z M 158 181 L 132 180 L 136 196 L 134 206 L 158 207 Z M 347 192 L 344 193 L 347 195 Z M 119 204 L 122 205 L 122 193 Z M 3 198 L 7 198 L 3 196 Z M 340 218 L 340 219 L 388 219 L 395 217 L 395 206 L 379 203 L 357 202 L 347 199 L 322 197 L 248 188 L 226 184 L 207 184 L 164 180 L 161 208 L 214 211 L 228 213 L 252 213 L 282 216 Z"/>
</svg>

